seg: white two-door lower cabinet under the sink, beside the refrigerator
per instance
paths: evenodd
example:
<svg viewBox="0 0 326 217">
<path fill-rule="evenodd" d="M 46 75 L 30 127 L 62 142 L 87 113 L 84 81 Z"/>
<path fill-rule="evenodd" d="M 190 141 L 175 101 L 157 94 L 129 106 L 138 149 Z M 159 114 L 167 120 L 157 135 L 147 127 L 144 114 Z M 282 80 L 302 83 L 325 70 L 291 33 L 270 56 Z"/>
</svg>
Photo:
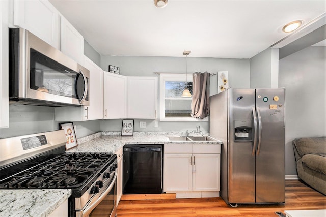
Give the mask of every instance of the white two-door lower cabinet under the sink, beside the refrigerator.
<svg viewBox="0 0 326 217">
<path fill-rule="evenodd" d="M 177 198 L 220 196 L 220 144 L 166 144 L 163 191 Z"/>
</svg>

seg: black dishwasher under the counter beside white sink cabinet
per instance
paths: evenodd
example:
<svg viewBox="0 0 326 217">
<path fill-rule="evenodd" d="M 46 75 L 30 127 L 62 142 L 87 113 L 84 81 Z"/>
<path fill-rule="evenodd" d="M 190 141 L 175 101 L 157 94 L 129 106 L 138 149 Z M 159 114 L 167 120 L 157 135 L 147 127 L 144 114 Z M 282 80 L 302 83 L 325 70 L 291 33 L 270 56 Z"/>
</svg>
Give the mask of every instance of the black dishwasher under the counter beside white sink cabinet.
<svg viewBox="0 0 326 217">
<path fill-rule="evenodd" d="M 162 193 L 163 145 L 123 146 L 123 194 Z"/>
</svg>

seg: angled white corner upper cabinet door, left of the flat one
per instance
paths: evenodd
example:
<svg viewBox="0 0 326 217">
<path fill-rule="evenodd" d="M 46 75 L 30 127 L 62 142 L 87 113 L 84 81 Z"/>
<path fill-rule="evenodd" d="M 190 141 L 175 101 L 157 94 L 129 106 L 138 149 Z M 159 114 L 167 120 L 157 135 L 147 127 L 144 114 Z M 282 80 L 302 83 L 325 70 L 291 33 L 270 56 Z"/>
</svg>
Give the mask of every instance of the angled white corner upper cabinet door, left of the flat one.
<svg viewBox="0 0 326 217">
<path fill-rule="evenodd" d="M 127 116 L 127 77 L 104 72 L 104 119 Z"/>
</svg>

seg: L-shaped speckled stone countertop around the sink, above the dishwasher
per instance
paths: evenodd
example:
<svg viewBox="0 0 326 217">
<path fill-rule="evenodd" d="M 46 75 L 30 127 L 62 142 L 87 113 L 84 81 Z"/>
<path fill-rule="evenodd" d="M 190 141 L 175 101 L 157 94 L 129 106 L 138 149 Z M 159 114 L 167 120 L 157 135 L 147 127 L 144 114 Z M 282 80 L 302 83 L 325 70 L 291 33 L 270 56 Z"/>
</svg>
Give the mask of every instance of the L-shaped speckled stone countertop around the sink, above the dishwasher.
<svg viewBox="0 0 326 217">
<path fill-rule="evenodd" d="M 189 136 L 207 136 L 207 132 Z M 121 132 L 102 131 L 77 140 L 78 146 L 66 152 L 116 153 L 128 144 L 222 144 L 221 141 L 169 141 L 171 136 L 185 136 L 180 132 L 134 132 L 133 136 L 121 136 Z"/>
</svg>

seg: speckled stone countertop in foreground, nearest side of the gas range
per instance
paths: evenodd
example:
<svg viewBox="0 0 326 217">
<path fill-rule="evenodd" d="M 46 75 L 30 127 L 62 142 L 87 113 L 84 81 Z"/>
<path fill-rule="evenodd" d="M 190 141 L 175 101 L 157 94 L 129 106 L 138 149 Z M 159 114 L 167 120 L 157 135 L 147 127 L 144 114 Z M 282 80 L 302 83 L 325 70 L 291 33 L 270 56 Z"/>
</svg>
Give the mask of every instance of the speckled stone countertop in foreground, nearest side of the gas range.
<svg viewBox="0 0 326 217">
<path fill-rule="evenodd" d="M 1 217 L 46 217 L 71 195 L 71 189 L 0 190 Z"/>
</svg>

